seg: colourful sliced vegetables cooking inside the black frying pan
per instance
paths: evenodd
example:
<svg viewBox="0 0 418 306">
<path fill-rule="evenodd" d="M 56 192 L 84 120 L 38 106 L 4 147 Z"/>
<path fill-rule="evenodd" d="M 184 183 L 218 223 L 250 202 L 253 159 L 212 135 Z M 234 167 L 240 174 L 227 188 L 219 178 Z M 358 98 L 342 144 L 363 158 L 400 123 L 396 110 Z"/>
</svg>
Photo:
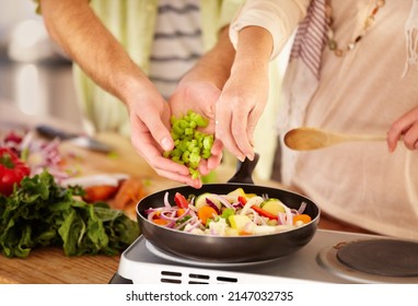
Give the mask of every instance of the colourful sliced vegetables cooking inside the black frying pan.
<svg viewBox="0 0 418 306">
<path fill-rule="evenodd" d="M 267 195 L 245 193 L 237 188 L 228 195 L 206 192 L 184 197 L 176 192 L 174 202 L 164 197 L 164 205 L 146 210 L 148 221 L 172 229 L 214 236 L 274 234 L 303 226 L 312 221 L 303 213 L 306 203 L 290 209 Z"/>
</svg>

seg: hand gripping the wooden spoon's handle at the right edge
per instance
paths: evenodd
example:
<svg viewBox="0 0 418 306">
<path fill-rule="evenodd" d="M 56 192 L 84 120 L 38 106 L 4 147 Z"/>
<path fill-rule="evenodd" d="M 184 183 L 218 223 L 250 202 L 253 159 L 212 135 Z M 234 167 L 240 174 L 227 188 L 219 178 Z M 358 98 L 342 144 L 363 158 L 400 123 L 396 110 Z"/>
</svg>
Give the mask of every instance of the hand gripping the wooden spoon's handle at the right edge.
<svg viewBox="0 0 418 306">
<path fill-rule="evenodd" d="M 387 131 L 390 152 L 396 150 L 400 138 L 408 150 L 418 150 L 418 107 L 413 108 L 392 123 Z"/>
</svg>

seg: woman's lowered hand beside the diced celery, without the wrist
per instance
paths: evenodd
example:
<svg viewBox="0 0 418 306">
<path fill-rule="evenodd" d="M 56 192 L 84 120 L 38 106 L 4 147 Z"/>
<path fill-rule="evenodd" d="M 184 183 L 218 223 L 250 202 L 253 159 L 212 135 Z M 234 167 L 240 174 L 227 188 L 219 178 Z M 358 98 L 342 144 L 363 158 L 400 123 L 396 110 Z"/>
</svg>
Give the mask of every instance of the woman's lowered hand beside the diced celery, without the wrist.
<svg viewBox="0 0 418 306">
<path fill-rule="evenodd" d="M 216 137 L 240 161 L 254 160 L 254 131 L 268 96 L 268 73 L 235 66 L 216 105 Z"/>
</svg>

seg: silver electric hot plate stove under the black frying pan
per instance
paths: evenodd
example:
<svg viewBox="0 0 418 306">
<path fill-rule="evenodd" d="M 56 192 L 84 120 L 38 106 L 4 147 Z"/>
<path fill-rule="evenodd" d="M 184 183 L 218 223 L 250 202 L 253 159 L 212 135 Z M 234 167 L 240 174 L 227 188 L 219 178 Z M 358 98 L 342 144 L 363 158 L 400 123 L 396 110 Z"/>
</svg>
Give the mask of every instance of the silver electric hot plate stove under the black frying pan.
<svg viewBox="0 0 418 306">
<path fill-rule="evenodd" d="M 417 260 L 418 243 L 326 229 L 287 257 L 240 263 L 179 258 L 140 236 L 109 283 L 418 283 Z"/>
</svg>

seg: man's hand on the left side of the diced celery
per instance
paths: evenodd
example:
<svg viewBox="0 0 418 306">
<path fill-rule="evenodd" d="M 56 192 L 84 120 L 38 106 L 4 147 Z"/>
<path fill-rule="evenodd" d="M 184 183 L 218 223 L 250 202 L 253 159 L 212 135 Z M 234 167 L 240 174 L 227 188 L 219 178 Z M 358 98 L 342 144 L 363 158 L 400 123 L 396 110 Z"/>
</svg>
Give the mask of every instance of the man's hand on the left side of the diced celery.
<svg viewBox="0 0 418 306">
<path fill-rule="evenodd" d="M 174 148 L 170 134 L 171 110 L 156 89 L 148 83 L 135 91 L 126 105 L 129 110 L 131 142 L 137 152 L 162 177 L 190 184 L 188 168 L 163 157 Z"/>
</svg>

